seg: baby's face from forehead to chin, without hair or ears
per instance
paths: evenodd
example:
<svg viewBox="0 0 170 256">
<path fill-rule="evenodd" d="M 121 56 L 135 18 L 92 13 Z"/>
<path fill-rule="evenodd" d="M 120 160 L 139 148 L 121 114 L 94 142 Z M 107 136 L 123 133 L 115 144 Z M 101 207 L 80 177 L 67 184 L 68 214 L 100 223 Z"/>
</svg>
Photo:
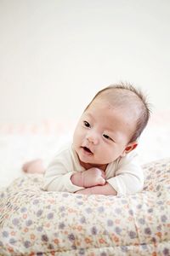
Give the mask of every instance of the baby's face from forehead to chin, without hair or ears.
<svg viewBox="0 0 170 256">
<path fill-rule="evenodd" d="M 82 166 L 105 166 L 124 154 L 134 131 L 133 114 L 96 99 L 82 113 L 73 137 Z"/>
</svg>

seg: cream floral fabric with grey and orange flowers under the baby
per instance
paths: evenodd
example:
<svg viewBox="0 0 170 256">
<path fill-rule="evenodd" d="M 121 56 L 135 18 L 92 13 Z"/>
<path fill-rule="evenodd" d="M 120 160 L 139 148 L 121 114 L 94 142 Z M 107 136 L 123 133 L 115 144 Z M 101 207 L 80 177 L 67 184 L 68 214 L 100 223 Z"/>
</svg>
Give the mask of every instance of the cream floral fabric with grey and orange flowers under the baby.
<svg viewBox="0 0 170 256">
<path fill-rule="evenodd" d="M 170 159 L 144 166 L 144 191 L 46 192 L 41 176 L 0 192 L 0 255 L 170 255 Z"/>
</svg>

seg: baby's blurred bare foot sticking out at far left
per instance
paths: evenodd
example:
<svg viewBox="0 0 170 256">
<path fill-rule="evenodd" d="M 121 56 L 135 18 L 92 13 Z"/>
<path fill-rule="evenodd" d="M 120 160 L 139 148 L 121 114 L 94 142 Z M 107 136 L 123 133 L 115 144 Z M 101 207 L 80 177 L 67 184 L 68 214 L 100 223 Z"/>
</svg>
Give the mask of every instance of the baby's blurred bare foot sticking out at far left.
<svg viewBox="0 0 170 256">
<path fill-rule="evenodd" d="M 45 172 L 45 168 L 42 165 L 41 159 L 31 160 L 29 162 L 26 162 L 22 166 L 22 170 L 23 172 L 26 172 L 26 173 L 44 173 Z"/>
</svg>

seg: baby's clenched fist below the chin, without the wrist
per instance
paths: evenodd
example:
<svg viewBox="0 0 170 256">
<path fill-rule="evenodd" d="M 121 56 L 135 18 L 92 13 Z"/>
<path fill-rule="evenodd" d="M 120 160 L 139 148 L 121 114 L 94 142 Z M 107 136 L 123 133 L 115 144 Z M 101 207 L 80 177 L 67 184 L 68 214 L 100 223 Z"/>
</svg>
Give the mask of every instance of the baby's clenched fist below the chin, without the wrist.
<svg viewBox="0 0 170 256">
<path fill-rule="evenodd" d="M 84 188 L 105 185 L 105 172 L 99 168 L 92 167 L 82 172 L 82 183 Z"/>
</svg>

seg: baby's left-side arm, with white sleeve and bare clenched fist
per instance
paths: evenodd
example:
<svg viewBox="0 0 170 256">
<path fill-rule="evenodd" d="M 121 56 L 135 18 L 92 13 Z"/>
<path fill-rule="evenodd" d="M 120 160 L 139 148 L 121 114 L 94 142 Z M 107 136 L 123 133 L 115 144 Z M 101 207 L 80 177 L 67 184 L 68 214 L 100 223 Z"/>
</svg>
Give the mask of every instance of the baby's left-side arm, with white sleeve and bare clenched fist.
<svg viewBox="0 0 170 256">
<path fill-rule="evenodd" d="M 105 172 L 90 168 L 83 172 L 74 171 L 72 161 L 65 160 L 65 153 L 58 154 L 44 174 L 42 189 L 48 191 L 76 192 L 77 190 L 105 184 Z"/>
</svg>

